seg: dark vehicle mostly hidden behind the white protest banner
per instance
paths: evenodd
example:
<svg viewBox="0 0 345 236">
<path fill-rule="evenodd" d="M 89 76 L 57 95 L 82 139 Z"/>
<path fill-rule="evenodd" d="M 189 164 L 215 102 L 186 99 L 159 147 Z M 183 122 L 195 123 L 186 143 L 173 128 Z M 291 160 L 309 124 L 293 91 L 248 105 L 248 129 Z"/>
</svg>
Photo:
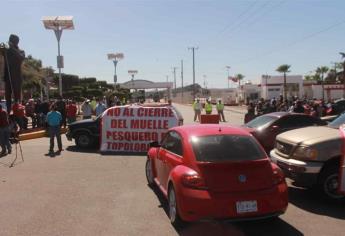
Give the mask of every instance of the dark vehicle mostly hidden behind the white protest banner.
<svg viewBox="0 0 345 236">
<path fill-rule="evenodd" d="M 168 104 L 148 104 L 144 106 L 168 106 Z M 178 125 L 183 125 L 183 117 L 181 113 L 174 107 L 171 106 L 177 117 L 178 117 Z M 101 115 L 93 118 L 93 119 L 86 119 L 73 122 L 72 124 L 68 125 L 68 129 L 66 132 L 66 137 L 69 141 L 75 140 L 75 144 L 80 148 L 89 148 L 89 147 L 96 147 L 99 145 L 99 135 L 100 135 L 100 122 L 101 122 Z"/>
</svg>

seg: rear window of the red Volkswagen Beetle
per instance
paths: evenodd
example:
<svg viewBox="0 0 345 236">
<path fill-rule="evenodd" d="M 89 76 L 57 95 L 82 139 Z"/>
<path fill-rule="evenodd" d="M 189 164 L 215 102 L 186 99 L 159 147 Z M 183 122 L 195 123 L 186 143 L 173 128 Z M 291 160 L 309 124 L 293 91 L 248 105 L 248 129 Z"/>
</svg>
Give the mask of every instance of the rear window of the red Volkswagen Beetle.
<svg viewBox="0 0 345 236">
<path fill-rule="evenodd" d="M 250 161 L 265 158 L 259 144 L 250 136 L 192 137 L 191 143 L 195 158 L 199 162 Z"/>
</svg>

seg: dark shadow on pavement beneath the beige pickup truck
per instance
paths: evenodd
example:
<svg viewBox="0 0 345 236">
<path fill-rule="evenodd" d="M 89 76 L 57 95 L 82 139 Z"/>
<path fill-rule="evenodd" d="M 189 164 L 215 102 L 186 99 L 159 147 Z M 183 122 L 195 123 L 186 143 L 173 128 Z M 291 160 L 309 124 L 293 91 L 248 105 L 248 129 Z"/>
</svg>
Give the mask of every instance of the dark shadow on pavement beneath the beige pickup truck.
<svg viewBox="0 0 345 236">
<path fill-rule="evenodd" d="M 289 187 L 289 202 L 298 208 L 318 215 L 345 219 L 345 204 L 329 202 L 321 198 L 315 190 Z"/>
</svg>

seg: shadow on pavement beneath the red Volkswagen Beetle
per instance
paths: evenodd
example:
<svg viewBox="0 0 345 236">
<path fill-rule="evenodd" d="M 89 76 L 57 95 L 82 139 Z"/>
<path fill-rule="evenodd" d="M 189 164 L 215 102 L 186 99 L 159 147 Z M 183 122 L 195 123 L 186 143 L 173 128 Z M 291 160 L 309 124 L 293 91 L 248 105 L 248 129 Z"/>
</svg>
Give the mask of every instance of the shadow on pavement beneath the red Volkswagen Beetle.
<svg viewBox="0 0 345 236">
<path fill-rule="evenodd" d="M 149 187 L 149 186 L 148 186 Z M 149 187 L 151 188 L 151 187 Z M 168 218 L 168 202 L 164 195 L 160 192 L 157 186 L 151 188 L 159 200 L 160 205 L 158 207 L 163 208 Z M 227 221 L 200 221 L 195 223 L 189 223 L 183 228 L 175 228 L 179 235 L 183 236 L 202 236 L 202 235 L 291 235 L 302 236 L 303 233 L 294 228 L 280 218 L 256 220 L 256 221 L 244 221 L 244 222 L 227 222 Z"/>
</svg>

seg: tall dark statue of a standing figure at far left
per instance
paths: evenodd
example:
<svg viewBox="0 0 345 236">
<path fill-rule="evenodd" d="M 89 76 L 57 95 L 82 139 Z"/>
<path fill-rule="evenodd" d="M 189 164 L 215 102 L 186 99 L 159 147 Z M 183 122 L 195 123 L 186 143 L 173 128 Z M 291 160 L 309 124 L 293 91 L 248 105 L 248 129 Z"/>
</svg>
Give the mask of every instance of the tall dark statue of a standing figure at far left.
<svg viewBox="0 0 345 236">
<path fill-rule="evenodd" d="M 22 63 L 25 59 L 25 52 L 18 47 L 19 37 L 11 34 L 8 45 L 9 48 L 3 51 L 5 55 L 5 98 L 7 113 L 10 114 L 12 108 L 12 93 L 14 102 L 21 101 L 22 89 Z"/>
</svg>

